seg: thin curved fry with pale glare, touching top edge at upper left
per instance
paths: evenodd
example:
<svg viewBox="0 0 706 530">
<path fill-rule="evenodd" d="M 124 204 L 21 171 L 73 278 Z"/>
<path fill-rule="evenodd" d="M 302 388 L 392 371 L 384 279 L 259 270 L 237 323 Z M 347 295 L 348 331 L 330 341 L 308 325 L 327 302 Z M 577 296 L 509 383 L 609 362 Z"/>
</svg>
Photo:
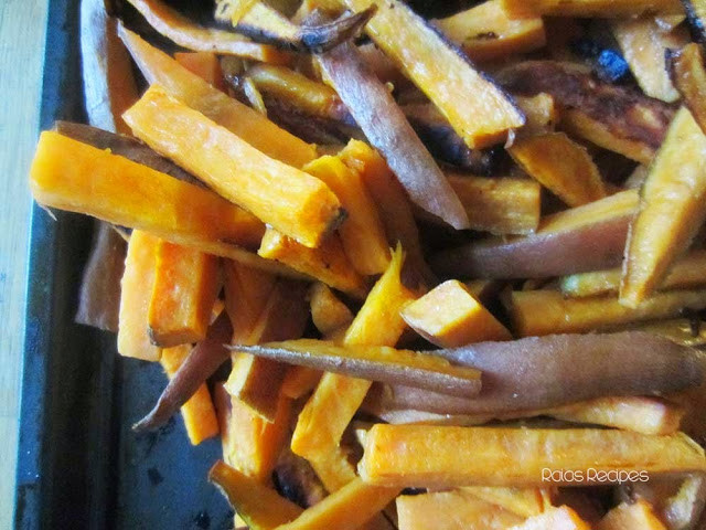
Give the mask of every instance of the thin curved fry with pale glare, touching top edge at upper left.
<svg viewBox="0 0 706 530">
<path fill-rule="evenodd" d="M 196 52 L 236 55 L 266 63 L 288 63 L 290 56 L 266 44 L 257 44 L 229 31 L 196 25 L 160 0 L 129 0 L 158 32 Z"/>
</svg>

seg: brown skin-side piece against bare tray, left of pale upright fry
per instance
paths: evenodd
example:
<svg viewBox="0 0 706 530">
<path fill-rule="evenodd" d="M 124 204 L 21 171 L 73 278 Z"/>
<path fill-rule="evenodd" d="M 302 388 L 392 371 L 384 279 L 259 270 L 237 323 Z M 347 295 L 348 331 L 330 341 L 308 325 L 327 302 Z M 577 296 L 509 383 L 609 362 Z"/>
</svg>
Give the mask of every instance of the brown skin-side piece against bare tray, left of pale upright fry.
<svg viewBox="0 0 706 530">
<path fill-rule="evenodd" d="M 120 279 L 125 272 L 127 245 L 107 223 L 96 222 L 90 256 L 84 268 L 78 294 L 76 322 L 107 331 L 118 331 Z"/>
</svg>

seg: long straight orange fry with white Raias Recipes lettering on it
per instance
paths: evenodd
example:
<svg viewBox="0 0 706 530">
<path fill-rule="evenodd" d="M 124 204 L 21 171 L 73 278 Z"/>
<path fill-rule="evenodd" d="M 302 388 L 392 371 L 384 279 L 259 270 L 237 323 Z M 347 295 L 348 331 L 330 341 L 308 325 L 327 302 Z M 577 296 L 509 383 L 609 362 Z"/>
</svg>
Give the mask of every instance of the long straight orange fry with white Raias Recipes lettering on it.
<svg viewBox="0 0 706 530">
<path fill-rule="evenodd" d="M 619 471 L 632 471 L 637 480 L 639 471 L 704 469 L 704 449 L 681 433 L 384 424 L 367 433 L 359 464 L 366 483 L 422 488 L 578 486 L 618 481 Z"/>
</svg>

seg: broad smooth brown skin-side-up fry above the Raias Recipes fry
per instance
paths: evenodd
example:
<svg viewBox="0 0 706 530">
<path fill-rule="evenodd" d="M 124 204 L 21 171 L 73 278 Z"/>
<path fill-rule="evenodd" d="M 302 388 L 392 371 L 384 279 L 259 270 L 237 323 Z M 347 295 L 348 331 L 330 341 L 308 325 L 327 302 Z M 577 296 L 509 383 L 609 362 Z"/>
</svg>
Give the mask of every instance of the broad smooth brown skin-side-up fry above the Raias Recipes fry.
<svg viewBox="0 0 706 530">
<path fill-rule="evenodd" d="M 479 395 L 463 400 L 393 385 L 378 389 L 372 396 L 377 403 L 371 404 L 441 414 L 516 414 L 605 396 L 666 395 L 698 386 L 704 378 L 700 353 L 641 331 L 531 337 L 432 353 L 481 370 Z"/>
</svg>

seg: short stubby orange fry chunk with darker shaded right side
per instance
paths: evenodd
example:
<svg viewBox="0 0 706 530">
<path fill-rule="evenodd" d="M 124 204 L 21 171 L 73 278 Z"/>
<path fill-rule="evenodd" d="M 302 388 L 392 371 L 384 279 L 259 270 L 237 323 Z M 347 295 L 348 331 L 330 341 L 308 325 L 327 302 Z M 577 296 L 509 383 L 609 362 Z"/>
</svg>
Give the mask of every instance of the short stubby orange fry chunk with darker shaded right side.
<svg viewBox="0 0 706 530">
<path fill-rule="evenodd" d="M 218 258 L 167 241 L 156 255 L 148 312 L 152 342 L 168 348 L 203 340 L 221 287 Z"/>
</svg>

